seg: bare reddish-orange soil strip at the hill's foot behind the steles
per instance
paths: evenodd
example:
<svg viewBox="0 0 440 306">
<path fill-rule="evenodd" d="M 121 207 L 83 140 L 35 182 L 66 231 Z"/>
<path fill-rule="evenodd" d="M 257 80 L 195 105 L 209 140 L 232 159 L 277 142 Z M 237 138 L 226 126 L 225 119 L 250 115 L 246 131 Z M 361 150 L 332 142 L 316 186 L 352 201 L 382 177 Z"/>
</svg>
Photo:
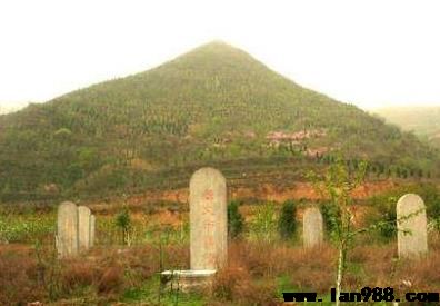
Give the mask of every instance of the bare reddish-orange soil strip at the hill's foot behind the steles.
<svg viewBox="0 0 440 306">
<path fill-rule="evenodd" d="M 366 199 L 373 195 L 381 194 L 386 190 L 396 188 L 401 182 L 396 182 L 392 180 L 382 180 L 376 182 L 367 182 L 359 188 L 357 188 L 352 197 L 356 199 Z M 133 214 L 133 218 L 149 219 L 154 220 L 156 224 L 161 225 L 171 225 L 178 226 L 181 225 L 182 220 L 188 218 L 188 188 L 178 189 L 178 190 L 167 190 L 159 193 L 146 193 L 143 195 L 133 195 L 127 199 L 128 205 L 130 206 L 131 214 Z M 229 190 L 229 198 L 231 199 L 260 199 L 260 200 L 270 200 L 282 203 L 287 199 L 294 200 L 317 200 L 321 199 L 322 196 L 317 193 L 312 185 L 309 182 L 296 182 L 291 186 L 291 188 L 281 189 L 273 185 L 262 185 L 258 188 L 236 188 Z M 169 206 L 158 206 L 160 201 L 169 201 L 169 203 L 180 203 L 182 206 L 177 207 L 178 209 L 174 211 Z M 100 203 L 91 203 L 89 207 L 99 215 L 113 215 L 116 211 L 120 209 L 122 201 L 114 199 L 109 201 L 100 201 Z M 259 206 L 249 205 L 244 203 L 244 205 L 240 206 L 240 211 L 244 216 L 244 218 L 249 221 L 254 217 L 256 209 Z M 183 208 L 183 210 L 182 210 Z M 278 209 L 279 207 L 277 207 Z M 362 216 L 369 209 L 368 206 L 357 205 L 352 207 L 356 225 L 362 224 Z M 303 208 L 299 208 L 297 213 L 297 218 L 301 219 L 303 214 Z"/>
</svg>

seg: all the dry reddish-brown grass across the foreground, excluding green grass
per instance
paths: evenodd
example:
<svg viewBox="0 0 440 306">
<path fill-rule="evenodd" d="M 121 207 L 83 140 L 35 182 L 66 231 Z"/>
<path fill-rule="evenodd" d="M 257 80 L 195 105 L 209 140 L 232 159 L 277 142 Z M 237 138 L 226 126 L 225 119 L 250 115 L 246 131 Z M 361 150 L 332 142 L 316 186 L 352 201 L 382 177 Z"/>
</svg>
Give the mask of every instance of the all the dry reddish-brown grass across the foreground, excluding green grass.
<svg viewBox="0 0 440 306">
<path fill-rule="evenodd" d="M 397 293 L 438 292 L 440 235 L 430 236 L 430 254 L 398 260 L 394 244 L 358 245 L 350 251 L 344 289 L 393 287 Z M 87 295 L 114 302 L 127 288 L 144 285 L 160 272 L 157 246 L 96 248 L 87 256 L 56 260 L 52 250 L 37 259 L 32 248 L 1 247 L 0 305 L 70 300 Z M 162 268 L 188 268 L 187 245 L 166 246 Z M 216 277 L 212 305 L 278 305 L 278 282 L 327 294 L 334 287 L 337 250 L 330 245 L 303 249 L 283 243 L 238 240 L 229 245 L 228 266 Z M 283 280 L 283 282 L 284 282 Z"/>
</svg>

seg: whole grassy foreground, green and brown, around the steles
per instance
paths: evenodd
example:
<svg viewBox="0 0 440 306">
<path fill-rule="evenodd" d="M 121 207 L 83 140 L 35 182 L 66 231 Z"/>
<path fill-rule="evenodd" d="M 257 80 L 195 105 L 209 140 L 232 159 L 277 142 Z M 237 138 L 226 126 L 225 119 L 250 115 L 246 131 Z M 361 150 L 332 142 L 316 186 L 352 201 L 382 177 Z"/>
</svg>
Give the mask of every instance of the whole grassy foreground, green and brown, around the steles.
<svg viewBox="0 0 440 306">
<path fill-rule="evenodd" d="M 254 209 L 261 213 L 261 207 Z M 251 213 L 246 214 L 246 234 L 229 244 L 229 263 L 218 273 L 212 294 L 191 295 L 161 290 L 158 277 L 163 269 L 189 268 L 184 211 L 133 213 L 130 247 L 122 245 L 114 216 L 101 215 L 97 247 L 66 260 L 56 258 L 54 211 L 4 216 L 0 229 L 10 240 L 0 245 L 0 305 L 281 305 L 283 292 L 317 292 L 328 300 L 334 287 L 337 250 L 330 244 L 303 249 L 300 233 L 281 240 L 273 223 L 260 225 L 267 228 L 261 231 L 261 220 Z M 397 258 L 392 238 L 360 236 L 349 256 L 343 289 L 392 287 L 400 296 L 439 292 L 438 231 L 429 233 L 429 246 L 427 258 L 406 261 Z"/>
</svg>

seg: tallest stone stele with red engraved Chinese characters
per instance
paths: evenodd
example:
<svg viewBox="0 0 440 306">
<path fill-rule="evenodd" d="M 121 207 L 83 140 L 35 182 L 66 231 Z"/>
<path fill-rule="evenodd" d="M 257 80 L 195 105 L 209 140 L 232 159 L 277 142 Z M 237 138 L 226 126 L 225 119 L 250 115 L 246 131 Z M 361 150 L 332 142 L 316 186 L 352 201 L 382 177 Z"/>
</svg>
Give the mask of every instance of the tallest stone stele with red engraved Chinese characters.
<svg viewBox="0 0 440 306">
<path fill-rule="evenodd" d="M 227 186 L 223 175 L 201 168 L 190 180 L 191 269 L 218 269 L 227 261 Z"/>
</svg>

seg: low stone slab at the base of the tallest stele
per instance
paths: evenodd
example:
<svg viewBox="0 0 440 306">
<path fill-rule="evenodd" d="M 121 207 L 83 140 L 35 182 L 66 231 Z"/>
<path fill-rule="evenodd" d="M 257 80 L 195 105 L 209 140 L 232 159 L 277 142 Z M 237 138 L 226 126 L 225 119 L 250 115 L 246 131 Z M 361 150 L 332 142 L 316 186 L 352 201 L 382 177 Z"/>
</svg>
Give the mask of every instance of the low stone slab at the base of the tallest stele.
<svg viewBox="0 0 440 306">
<path fill-rule="evenodd" d="M 217 270 L 164 270 L 160 280 L 166 290 L 211 292 Z"/>
</svg>

